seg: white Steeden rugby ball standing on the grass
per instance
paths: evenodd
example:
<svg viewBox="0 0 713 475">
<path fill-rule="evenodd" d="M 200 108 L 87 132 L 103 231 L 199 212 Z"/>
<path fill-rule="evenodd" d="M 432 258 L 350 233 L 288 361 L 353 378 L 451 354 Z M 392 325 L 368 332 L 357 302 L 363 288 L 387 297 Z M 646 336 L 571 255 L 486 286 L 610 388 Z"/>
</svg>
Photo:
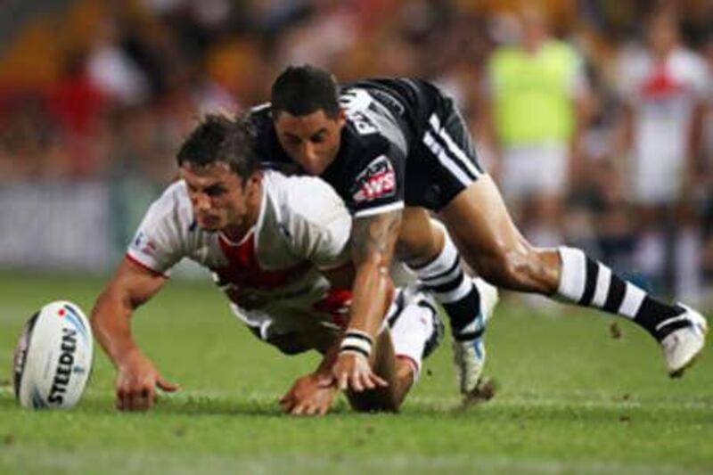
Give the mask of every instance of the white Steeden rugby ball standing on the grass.
<svg viewBox="0 0 713 475">
<path fill-rule="evenodd" d="M 82 397 L 92 370 L 94 340 L 75 304 L 58 300 L 29 318 L 13 357 L 13 385 L 20 405 L 70 408 Z"/>
</svg>

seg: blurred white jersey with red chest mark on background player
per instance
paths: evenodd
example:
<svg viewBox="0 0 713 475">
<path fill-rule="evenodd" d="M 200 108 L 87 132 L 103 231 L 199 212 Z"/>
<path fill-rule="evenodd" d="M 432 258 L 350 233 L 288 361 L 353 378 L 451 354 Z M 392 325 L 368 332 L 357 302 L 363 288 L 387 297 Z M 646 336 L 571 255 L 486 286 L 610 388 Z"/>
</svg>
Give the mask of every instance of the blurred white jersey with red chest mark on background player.
<svg viewBox="0 0 713 475">
<path fill-rule="evenodd" d="M 709 71 L 702 58 L 684 48 L 663 61 L 644 50 L 629 51 L 619 63 L 619 93 L 635 111 L 637 158 L 683 162 L 693 106 L 710 93 Z"/>
</svg>

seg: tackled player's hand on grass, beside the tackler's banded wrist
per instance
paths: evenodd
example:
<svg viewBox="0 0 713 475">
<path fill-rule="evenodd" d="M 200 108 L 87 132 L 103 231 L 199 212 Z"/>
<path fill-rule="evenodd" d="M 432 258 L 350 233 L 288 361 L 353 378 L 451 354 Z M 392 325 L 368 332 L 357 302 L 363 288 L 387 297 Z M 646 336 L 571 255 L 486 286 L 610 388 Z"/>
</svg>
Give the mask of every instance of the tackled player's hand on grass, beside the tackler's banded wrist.
<svg viewBox="0 0 713 475">
<path fill-rule="evenodd" d="M 287 414 L 324 415 L 332 407 L 336 391 L 332 374 L 309 373 L 292 384 L 280 406 Z"/>
</svg>

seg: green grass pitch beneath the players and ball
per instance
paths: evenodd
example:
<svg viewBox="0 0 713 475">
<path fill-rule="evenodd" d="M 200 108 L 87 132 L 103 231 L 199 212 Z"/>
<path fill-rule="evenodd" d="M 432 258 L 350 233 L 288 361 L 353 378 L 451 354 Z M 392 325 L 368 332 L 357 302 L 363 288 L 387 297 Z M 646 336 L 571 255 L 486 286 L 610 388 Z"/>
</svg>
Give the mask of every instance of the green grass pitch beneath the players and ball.
<svg viewBox="0 0 713 475">
<path fill-rule="evenodd" d="M 0 368 L 29 315 L 52 299 L 88 312 L 102 279 L 0 274 Z M 559 317 L 504 304 L 488 333 L 500 389 L 462 410 L 447 344 L 425 364 L 401 414 L 280 414 L 276 400 L 317 362 L 258 342 L 209 285 L 170 283 L 135 334 L 183 389 L 155 410 L 113 408 L 101 351 L 77 408 L 32 412 L 0 373 L 0 473 L 462 473 L 713 471 L 713 358 L 681 381 L 633 324 L 573 308 Z M 5 363 L 2 363 L 2 362 Z"/>
</svg>

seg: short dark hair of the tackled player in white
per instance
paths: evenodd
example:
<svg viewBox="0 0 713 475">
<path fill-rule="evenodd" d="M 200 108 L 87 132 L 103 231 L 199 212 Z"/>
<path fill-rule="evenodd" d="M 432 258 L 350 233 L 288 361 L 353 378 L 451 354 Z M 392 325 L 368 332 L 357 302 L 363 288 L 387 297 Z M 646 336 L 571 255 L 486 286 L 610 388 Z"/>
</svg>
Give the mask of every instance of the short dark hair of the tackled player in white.
<svg viewBox="0 0 713 475">
<path fill-rule="evenodd" d="M 255 127 L 246 115 L 231 119 L 223 114 L 208 114 L 185 139 L 176 161 L 179 167 L 186 162 L 199 167 L 224 162 L 246 180 L 260 168 L 255 139 Z"/>
</svg>

